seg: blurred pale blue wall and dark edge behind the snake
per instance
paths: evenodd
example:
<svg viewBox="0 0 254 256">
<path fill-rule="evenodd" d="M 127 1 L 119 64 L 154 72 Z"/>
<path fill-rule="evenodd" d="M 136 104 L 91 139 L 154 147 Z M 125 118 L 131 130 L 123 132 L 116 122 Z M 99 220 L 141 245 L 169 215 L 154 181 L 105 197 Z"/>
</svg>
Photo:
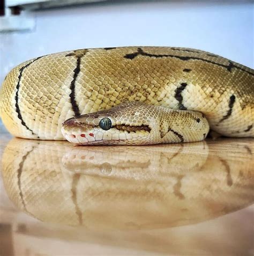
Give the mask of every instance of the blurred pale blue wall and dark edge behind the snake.
<svg viewBox="0 0 254 256">
<path fill-rule="evenodd" d="M 197 48 L 253 68 L 253 6 L 250 0 L 4 0 L 0 84 L 30 58 L 95 47 Z"/>
</svg>

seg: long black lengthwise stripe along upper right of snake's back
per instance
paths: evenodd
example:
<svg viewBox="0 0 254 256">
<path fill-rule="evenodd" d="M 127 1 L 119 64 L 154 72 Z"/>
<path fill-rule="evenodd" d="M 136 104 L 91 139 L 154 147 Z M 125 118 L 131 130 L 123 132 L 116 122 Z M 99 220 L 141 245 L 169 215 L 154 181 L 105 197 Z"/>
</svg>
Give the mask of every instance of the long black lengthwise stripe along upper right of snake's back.
<svg viewBox="0 0 254 256">
<path fill-rule="evenodd" d="M 135 52 L 135 53 L 126 54 L 124 56 L 124 58 L 129 58 L 130 60 L 133 60 L 133 58 L 137 57 L 138 55 L 147 56 L 147 57 L 155 57 L 155 58 L 162 58 L 162 57 L 172 57 L 173 58 L 174 57 L 174 58 L 179 58 L 182 61 L 189 61 L 189 60 L 204 61 L 207 63 L 211 63 L 214 65 L 218 65 L 220 67 L 226 68 L 229 72 L 231 72 L 232 68 L 236 68 L 236 69 L 240 69 L 240 70 L 254 76 L 253 72 L 250 72 L 250 71 L 244 69 L 247 67 L 244 67 L 244 66 L 243 66 L 244 68 L 238 67 L 231 61 L 228 61 L 228 65 L 225 65 L 225 64 L 214 62 L 214 61 L 206 60 L 205 58 L 194 57 L 194 56 L 179 56 L 179 55 L 173 55 L 173 54 L 150 54 L 150 53 L 144 52 L 141 48 L 138 48 L 137 52 Z"/>
</svg>

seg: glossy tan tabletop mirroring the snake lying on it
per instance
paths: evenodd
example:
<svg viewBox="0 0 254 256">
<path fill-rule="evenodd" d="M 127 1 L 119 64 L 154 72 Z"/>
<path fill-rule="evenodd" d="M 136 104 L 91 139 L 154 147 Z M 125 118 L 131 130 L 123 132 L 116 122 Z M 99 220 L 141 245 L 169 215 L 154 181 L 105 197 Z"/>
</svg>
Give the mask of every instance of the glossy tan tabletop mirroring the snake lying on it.
<svg viewBox="0 0 254 256">
<path fill-rule="evenodd" d="M 254 140 L 0 135 L 0 255 L 253 255 Z"/>
</svg>

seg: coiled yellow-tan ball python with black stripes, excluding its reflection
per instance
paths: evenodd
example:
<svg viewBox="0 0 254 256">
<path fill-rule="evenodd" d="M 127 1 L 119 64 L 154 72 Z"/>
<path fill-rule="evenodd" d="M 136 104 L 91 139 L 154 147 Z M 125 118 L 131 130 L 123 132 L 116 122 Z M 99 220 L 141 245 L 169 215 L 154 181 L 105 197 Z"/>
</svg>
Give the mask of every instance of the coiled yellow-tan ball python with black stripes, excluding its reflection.
<svg viewBox="0 0 254 256">
<path fill-rule="evenodd" d="M 190 48 L 72 50 L 12 69 L 0 115 L 14 136 L 76 144 L 200 141 L 209 129 L 254 137 L 253 75 Z"/>
</svg>

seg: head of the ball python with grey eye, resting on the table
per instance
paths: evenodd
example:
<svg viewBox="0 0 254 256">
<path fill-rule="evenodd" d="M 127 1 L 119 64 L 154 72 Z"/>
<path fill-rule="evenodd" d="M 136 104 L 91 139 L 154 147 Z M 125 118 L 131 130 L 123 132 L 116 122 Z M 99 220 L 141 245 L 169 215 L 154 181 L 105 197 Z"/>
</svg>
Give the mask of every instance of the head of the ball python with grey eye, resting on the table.
<svg viewBox="0 0 254 256">
<path fill-rule="evenodd" d="M 63 136 L 80 145 L 147 144 L 151 120 L 145 106 L 134 101 L 70 118 L 62 125 Z"/>
</svg>

